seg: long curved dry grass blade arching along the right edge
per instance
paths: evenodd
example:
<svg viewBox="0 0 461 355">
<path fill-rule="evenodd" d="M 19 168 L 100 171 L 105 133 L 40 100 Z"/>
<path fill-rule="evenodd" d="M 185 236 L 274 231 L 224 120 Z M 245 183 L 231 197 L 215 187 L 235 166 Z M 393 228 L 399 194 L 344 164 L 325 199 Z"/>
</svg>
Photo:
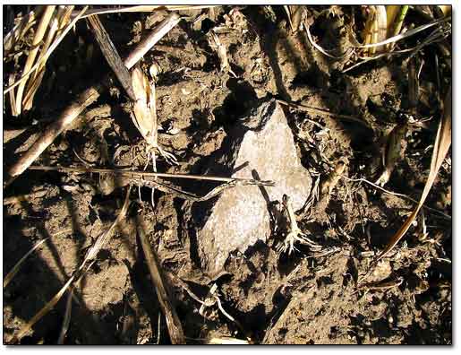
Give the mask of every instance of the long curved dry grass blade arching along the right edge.
<svg viewBox="0 0 461 355">
<path fill-rule="evenodd" d="M 392 250 L 393 247 L 397 245 L 401 238 L 403 238 L 406 234 L 406 231 L 412 225 L 414 219 L 416 218 L 418 212 L 423 207 L 423 203 L 426 200 L 427 195 L 429 195 L 429 191 L 431 191 L 431 187 L 434 183 L 435 177 L 439 172 L 440 166 L 445 160 L 445 156 L 448 153 L 449 147 L 451 145 L 451 86 L 448 89 L 447 96 L 445 98 L 445 102 L 443 104 L 443 117 L 440 119 L 439 129 L 437 131 L 437 136 L 435 138 L 434 143 L 434 150 L 432 152 L 432 159 L 431 159 L 431 170 L 429 172 L 429 177 L 427 178 L 426 184 L 424 186 L 423 195 L 421 195 L 419 203 L 414 208 L 414 212 L 408 217 L 405 223 L 402 225 L 400 229 L 398 229 L 397 233 L 390 238 L 388 246 L 384 248 L 384 250 L 376 257 L 374 264 L 376 264 L 382 257 L 388 254 Z"/>
</svg>

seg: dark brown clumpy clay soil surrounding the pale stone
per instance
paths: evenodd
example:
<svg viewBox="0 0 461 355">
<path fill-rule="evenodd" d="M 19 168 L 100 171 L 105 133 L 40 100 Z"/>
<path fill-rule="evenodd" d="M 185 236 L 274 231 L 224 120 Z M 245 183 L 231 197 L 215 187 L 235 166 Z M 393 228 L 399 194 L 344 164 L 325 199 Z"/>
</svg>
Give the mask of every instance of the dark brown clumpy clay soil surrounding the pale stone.
<svg viewBox="0 0 461 355">
<path fill-rule="evenodd" d="M 18 9 L 18 12 L 21 9 Z M 312 36 L 326 49 L 346 48 L 350 7 L 325 11 L 308 7 Z M 282 6 L 220 6 L 183 12 L 187 18 L 144 57 L 142 66 L 157 64 L 159 143 L 174 152 L 179 165 L 158 160 L 158 170 L 203 174 L 209 156 L 226 132 L 260 100 L 276 98 L 357 117 L 354 120 L 284 107 L 304 168 L 313 181 L 323 181 L 338 160 L 346 162 L 346 177 L 376 180 L 382 136 L 395 126 L 398 112 L 408 107 L 408 62 L 404 56 L 372 61 L 343 73 L 351 63 L 323 56 L 306 33 L 293 32 Z M 411 16 L 413 17 L 411 17 Z M 121 56 L 130 52 L 143 33 L 162 20 L 164 12 L 115 13 L 101 17 Z M 416 14 L 410 21 L 422 23 Z M 360 21 L 360 12 L 354 13 Z M 230 68 L 220 71 L 209 31 L 226 28 L 219 39 Z M 89 54 L 89 46 L 93 52 Z M 430 47 L 431 48 L 431 47 Z M 408 131 L 403 159 L 385 186 L 416 200 L 431 164 L 440 110 L 433 99 L 433 51 L 420 56 L 418 117 L 432 117 Z M 6 66 L 5 70 L 14 70 Z M 12 117 L 4 100 L 4 166 L 27 150 L 50 120 L 99 75 L 109 71 L 85 22 L 78 22 L 50 58 L 43 88 L 34 109 Z M 448 74 L 448 79 L 449 79 Z M 130 118 L 124 91 L 114 86 L 61 134 L 35 165 L 93 166 L 143 169 L 146 157 L 132 159 L 132 147 L 142 138 Z M 429 148 L 428 148 L 429 147 Z M 414 208 L 406 198 L 386 194 L 364 183 L 340 179 L 330 194 L 321 195 L 299 226 L 329 255 L 311 255 L 299 246 L 292 255 L 278 255 L 274 235 L 226 262 L 226 273 L 210 280 L 201 272 L 194 241 L 184 227 L 190 202 L 141 188 L 132 188 L 127 218 L 98 255 L 98 262 L 74 292 L 66 344 L 169 343 L 165 317 L 144 263 L 136 225 L 143 220 L 149 244 L 162 270 L 181 278 L 200 299 L 218 284 L 219 299 L 240 329 L 218 311 L 199 313 L 201 304 L 171 281 L 175 307 L 190 343 L 233 336 L 277 344 L 449 344 L 452 342 L 451 281 L 451 153 L 442 165 L 422 220 L 382 259 L 369 281 L 383 290 L 357 290 L 357 281 L 388 238 Z M 197 195 L 213 186 L 181 182 Z M 22 265 L 4 289 L 4 342 L 9 342 L 43 307 L 81 263 L 88 247 L 115 220 L 125 186 L 108 175 L 26 171 L 4 190 L 4 275 L 39 239 L 49 238 Z M 436 211 L 434 211 L 436 210 Z M 441 212 L 441 213 L 440 213 Z M 60 233 L 61 232 L 61 233 Z M 60 234 L 56 234 L 60 233 Z M 56 343 L 63 325 L 64 297 L 21 339 L 22 344 Z M 160 320 L 158 318 L 160 317 Z M 159 327 L 158 327 L 159 325 Z"/>
</svg>

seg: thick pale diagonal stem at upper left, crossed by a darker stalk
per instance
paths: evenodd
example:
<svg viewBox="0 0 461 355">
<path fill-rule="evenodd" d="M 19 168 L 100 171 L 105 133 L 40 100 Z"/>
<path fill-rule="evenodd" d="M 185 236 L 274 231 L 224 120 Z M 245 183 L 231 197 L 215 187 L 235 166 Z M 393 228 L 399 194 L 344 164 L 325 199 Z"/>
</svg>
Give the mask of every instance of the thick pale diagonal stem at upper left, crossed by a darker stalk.
<svg viewBox="0 0 461 355">
<path fill-rule="evenodd" d="M 163 22 L 160 22 L 158 27 L 149 34 L 148 39 L 143 40 L 132 51 L 132 54 L 125 59 L 124 65 L 128 69 L 135 65 L 136 62 L 149 51 L 150 48 L 152 48 L 160 39 L 163 38 L 163 36 L 166 35 L 166 29 L 171 30 L 171 28 L 177 24 L 179 20 L 180 17 L 177 13 L 172 13 L 167 16 L 166 19 Z M 91 103 L 98 100 L 100 92 L 102 92 L 103 89 L 104 85 L 102 83 L 98 83 L 90 87 L 89 89 L 83 91 L 77 97 L 77 100 L 73 101 L 71 106 L 64 109 L 64 112 L 61 114 L 61 116 L 58 117 L 53 124 L 48 126 L 46 131 L 38 138 L 35 143 L 32 144 L 30 149 L 25 152 L 10 169 L 8 169 L 8 175 L 10 178 L 6 182 L 5 186 L 10 185 L 14 178 L 18 177 L 22 174 L 22 172 L 29 168 L 30 164 L 32 164 L 32 162 L 36 160 L 38 156 L 44 152 L 51 143 L 53 143 L 55 138 L 64 131 L 65 127 L 69 126 L 85 108 L 90 106 Z"/>
</svg>

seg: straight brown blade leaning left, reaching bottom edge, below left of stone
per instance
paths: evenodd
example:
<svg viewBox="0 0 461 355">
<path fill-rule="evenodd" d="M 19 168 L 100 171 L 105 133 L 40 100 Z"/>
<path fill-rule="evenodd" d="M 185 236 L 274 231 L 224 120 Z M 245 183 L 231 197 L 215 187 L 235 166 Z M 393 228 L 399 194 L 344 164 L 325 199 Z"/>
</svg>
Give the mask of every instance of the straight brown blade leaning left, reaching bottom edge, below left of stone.
<svg viewBox="0 0 461 355">
<path fill-rule="evenodd" d="M 146 257 L 146 263 L 148 264 L 151 281 L 157 291 L 158 302 L 166 317 L 166 327 L 170 334 L 171 342 L 173 344 L 185 344 L 183 326 L 176 314 L 171 296 L 166 288 L 165 278 L 162 275 L 158 257 L 149 246 L 144 229 L 142 229 L 142 223 L 138 224 L 138 235 L 141 240 L 142 251 Z"/>
</svg>

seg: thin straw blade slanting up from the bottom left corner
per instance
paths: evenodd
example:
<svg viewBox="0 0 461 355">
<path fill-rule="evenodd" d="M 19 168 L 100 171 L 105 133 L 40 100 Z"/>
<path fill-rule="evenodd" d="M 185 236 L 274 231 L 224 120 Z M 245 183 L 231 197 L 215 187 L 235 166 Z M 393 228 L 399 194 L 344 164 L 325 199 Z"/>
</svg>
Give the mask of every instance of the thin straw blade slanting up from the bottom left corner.
<svg viewBox="0 0 461 355">
<path fill-rule="evenodd" d="M 81 265 L 73 272 L 73 275 L 69 278 L 67 282 L 65 282 L 64 286 L 59 290 L 53 299 L 48 301 L 48 303 L 42 307 L 38 313 L 33 316 L 30 321 L 24 325 L 21 330 L 13 336 L 13 339 L 11 340 L 12 343 L 19 342 L 21 338 L 29 332 L 30 328 L 35 325 L 43 316 L 46 316 L 47 313 L 55 307 L 57 302 L 63 297 L 64 293 L 66 290 L 69 290 L 69 292 L 73 291 L 74 285 L 76 282 L 81 280 L 81 277 L 90 270 L 90 267 L 92 264 L 95 263 L 96 261 L 96 255 L 98 255 L 99 250 L 101 247 L 106 244 L 108 238 L 112 236 L 112 231 L 115 229 L 115 226 L 120 223 L 120 221 L 124 220 L 124 216 L 126 214 L 126 211 L 128 210 L 128 206 L 130 204 L 130 190 L 131 188 L 128 188 L 126 191 L 126 195 L 124 198 L 124 206 L 122 207 L 122 210 L 118 213 L 117 218 L 115 219 L 114 223 L 110 226 L 110 228 L 107 230 L 106 233 L 101 235 L 96 242 L 93 244 L 92 247 L 88 250 L 87 254 L 85 255 L 85 258 Z"/>
</svg>

